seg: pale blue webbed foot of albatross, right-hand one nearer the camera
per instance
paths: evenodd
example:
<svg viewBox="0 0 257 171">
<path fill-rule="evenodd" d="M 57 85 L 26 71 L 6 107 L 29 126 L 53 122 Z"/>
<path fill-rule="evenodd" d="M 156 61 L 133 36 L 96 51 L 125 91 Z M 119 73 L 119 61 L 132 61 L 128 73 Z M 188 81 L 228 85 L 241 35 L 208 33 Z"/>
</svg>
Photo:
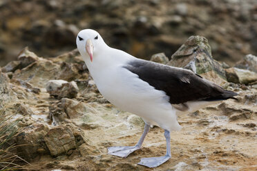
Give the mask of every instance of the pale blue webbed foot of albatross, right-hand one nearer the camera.
<svg viewBox="0 0 257 171">
<path fill-rule="evenodd" d="M 165 163 L 171 159 L 170 156 L 162 156 L 162 157 L 150 157 L 150 158 L 142 158 L 140 163 L 137 163 L 138 165 L 144 165 L 149 168 L 155 168 L 161 165 L 162 163 Z"/>
</svg>

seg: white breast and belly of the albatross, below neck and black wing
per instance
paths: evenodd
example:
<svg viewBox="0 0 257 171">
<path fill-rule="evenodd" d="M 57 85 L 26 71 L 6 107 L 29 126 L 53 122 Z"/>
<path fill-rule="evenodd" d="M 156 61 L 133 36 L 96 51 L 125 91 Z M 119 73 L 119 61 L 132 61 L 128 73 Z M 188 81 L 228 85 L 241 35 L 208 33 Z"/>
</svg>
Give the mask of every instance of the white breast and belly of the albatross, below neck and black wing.
<svg viewBox="0 0 257 171">
<path fill-rule="evenodd" d="M 155 90 L 125 68 L 98 73 L 101 76 L 93 79 L 99 92 L 117 108 L 137 114 L 146 123 L 165 130 L 180 130 L 175 109 L 163 91 Z"/>
</svg>

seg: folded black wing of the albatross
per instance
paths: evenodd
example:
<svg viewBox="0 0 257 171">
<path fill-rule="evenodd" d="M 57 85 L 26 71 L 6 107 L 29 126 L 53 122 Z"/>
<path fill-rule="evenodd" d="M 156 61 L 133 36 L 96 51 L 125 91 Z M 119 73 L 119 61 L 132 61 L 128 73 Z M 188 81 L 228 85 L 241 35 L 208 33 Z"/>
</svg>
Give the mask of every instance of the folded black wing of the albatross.
<svg viewBox="0 0 257 171">
<path fill-rule="evenodd" d="M 235 99 L 236 92 L 224 90 L 215 83 L 203 79 L 200 75 L 184 70 L 165 66 L 160 63 L 135 59 L 124 66 L 137 74 L 156 90 L 162 90 L 169 96 L 171 104 L 187 101 L 218 101 Z"/>
</svg>

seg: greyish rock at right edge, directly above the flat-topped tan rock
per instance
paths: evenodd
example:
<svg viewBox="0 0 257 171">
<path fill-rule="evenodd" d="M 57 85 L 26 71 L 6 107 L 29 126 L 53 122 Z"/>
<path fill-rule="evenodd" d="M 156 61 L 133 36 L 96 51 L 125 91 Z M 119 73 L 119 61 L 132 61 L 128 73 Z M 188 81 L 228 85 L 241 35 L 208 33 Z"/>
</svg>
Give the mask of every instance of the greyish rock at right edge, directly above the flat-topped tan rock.
<svg viewBox="0 0 257 171">
<path fill-rule="evenodd" d="M 235 67 L 257 73 L 257 57 L 252 54 L 247 54 L 241 61 L 236 63 Z"/>
</svg>

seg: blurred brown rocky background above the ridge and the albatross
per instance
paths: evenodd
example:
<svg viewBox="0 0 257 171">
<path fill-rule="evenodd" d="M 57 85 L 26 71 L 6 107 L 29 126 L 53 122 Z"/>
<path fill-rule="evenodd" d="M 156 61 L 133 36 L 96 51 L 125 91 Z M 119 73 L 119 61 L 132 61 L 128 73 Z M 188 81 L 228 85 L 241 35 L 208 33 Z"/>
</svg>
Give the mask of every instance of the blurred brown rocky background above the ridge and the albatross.
<svg viewBox="0 0 257 171">
<path fill-rule="evenodd" d="M 256 0 L 0 0 L 0 66 L 26 46 L 41 57 L 76 48 L 79 30 L 97 30 L 113 48 L 171 57 L 191 35 L 233 65 L 257 54 Z"/>
</svg>

